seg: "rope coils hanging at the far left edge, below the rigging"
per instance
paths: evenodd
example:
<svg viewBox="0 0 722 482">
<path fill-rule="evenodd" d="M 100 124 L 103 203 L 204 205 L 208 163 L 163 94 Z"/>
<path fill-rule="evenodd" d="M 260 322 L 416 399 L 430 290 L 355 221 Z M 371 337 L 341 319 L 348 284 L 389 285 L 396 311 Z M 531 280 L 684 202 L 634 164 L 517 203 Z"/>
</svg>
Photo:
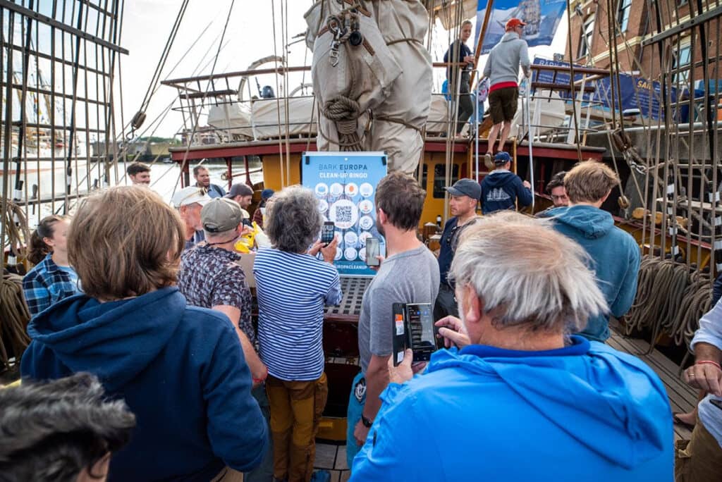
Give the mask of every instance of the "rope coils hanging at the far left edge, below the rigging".
<svg viewBox="0 0 722 482">
<path fill-rule="evenodd" d="M 17 363 L 30 344 L 25 331 L 29 321 L 30 312 L 22 295 L 22 276 L 4 273 L 0 281 L 0 364 L 5 369 L 9 368 L 9 354 Z"/>
</svg>

